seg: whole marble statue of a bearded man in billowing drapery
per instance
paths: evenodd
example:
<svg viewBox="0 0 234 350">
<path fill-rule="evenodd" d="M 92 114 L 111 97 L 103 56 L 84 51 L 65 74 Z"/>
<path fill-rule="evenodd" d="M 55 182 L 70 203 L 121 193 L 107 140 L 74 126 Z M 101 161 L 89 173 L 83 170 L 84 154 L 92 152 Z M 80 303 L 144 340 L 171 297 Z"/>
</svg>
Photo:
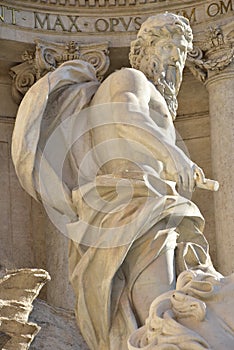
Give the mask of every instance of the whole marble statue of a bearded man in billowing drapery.
<svg viewBox="0 0 234 350">
<path fill-rule="evenodd" d="M 89 63 L 66 62 L 41 78 L 19 109 L 16 171 L 71 238 L 76 316 L 91 350 L 180 349 L 172 340 L 158 346 L 152 325 L 154 347 L 149 332 L 144 341 L 138 333 L 128 339 L 181 273 L 221 278 L 190 200 L 209 182 L 176 145 L 173 125 L 190 50 L 187 19 L 149 17 L 131 43 L 132 68 L 99 83 Z M 198 343 L 181 349 L 208 349 Z"/>
</svg>

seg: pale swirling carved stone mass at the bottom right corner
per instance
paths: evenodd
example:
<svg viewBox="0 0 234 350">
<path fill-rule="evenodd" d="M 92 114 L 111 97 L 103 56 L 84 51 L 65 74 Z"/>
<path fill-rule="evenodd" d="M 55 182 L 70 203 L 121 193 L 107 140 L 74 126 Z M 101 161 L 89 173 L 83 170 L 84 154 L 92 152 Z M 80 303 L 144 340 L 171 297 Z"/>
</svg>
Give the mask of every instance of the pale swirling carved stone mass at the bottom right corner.
<svg viewBox="0 0 234 350">
<path fill-rule="evenodd" d="M 232 350 L 234 274 L 220 280 L 185 271 L 176 290 L 151 304 L 145 326 L 135 331 L 129 350 Z"/>
</svg>

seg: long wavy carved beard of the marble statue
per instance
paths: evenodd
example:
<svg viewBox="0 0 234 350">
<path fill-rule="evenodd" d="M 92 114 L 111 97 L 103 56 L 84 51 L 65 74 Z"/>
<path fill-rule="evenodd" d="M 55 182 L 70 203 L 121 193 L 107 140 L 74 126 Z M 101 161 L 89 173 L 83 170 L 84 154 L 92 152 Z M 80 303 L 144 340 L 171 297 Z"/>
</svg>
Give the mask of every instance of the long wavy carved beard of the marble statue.
<svg viewBox="0 0 234 350">
<path fill-rule="evenodd" d="M 158 56 L 151 56 L 140 70 L 164 97 L 171 116 L 175 120 L 178 108 L 177 94 L 182 80 L 179 62 L 173 64 L 167 62 L 163 65 Z"/>
</svg>

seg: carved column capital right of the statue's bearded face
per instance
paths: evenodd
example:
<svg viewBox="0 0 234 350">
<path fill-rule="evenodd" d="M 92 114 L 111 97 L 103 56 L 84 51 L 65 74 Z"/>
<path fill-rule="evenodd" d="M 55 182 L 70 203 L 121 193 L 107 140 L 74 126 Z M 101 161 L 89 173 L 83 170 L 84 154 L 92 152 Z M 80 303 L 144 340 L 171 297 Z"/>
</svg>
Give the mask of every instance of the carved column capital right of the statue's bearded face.
<svg viewBox="0 0 234 350">
<path fill-rule="evenodd" d="M 195 42 L 194 50 L 188 54 L 186 65 L 195 77 L 204 83 L 209 71 L 218 73 L 233 59 L 234 31 L 224 35 L 221 27 L 215 27 L 210 28 L 206 40 Z"/>
</svg>

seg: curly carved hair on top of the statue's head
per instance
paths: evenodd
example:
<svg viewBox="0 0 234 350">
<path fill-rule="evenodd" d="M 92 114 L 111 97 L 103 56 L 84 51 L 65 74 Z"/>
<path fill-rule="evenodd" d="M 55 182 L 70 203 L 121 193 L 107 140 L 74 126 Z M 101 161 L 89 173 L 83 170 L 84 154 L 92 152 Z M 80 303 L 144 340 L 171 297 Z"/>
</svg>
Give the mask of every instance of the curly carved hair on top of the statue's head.
<svg viewBox="0 0 234 350">
<path fill-rule="evenodd" d="M 155 45 L 162 38 L 173 38 L 176 34 L 184 35 L 188 51 L 191 51 L 193 34 L 187 18 L 167 12 L 149 17 L 142 24 L 137 39 L 131 42 L 129 54 L 131 66 L 139 69 L 146 47 Z"/>
</svg>

